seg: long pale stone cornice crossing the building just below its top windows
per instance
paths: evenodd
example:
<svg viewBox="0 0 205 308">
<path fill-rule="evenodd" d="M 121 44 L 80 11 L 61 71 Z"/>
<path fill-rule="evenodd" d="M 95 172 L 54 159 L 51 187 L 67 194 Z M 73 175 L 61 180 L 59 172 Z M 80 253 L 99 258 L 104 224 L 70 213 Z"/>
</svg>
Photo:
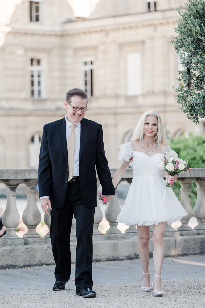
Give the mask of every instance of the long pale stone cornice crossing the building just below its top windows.
<svg viewBox="0 0 205 308">
<path fill-rule="evenodd" d="M 178 13 L 175 10 L 157 11 L 143 14 L 87 19 L 81 22 L 63 23 L 60 26 L 41 24 L 14 24 L 1 27 L 3 33 L 32 34 L 39 36 L 71 36 L 102 31 L 133 29 L 146 26 L 176 24 Z"/>
</svg>

